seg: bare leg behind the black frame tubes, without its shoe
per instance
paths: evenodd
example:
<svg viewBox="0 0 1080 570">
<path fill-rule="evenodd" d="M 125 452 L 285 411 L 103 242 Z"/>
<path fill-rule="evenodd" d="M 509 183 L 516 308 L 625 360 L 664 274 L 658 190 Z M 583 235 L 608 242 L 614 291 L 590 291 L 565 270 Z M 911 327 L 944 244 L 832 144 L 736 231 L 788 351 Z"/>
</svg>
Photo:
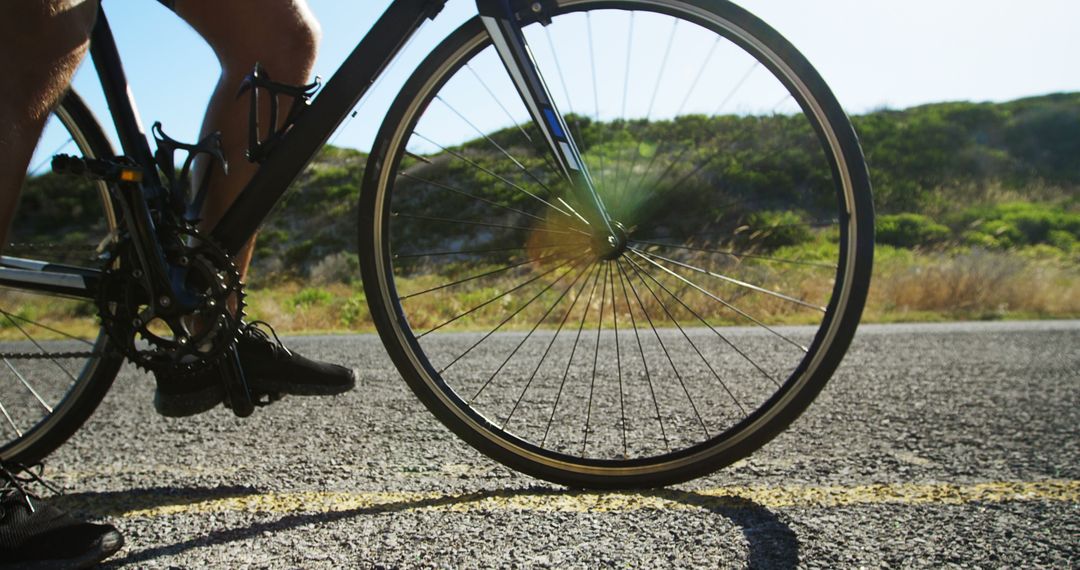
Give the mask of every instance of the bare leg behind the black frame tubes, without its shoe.
<svg viewBox="0 0 1080 570">
<path fill-rule="evenodd" d="M 305 0 L 178 0 L 176 12 L 210 43 L 221 64 L 221 77 L 206 108 L 200 136 L 221 132 L 229 175 L 212 167 L 208 161 L 200 161 L 192 177 L 198 186 L 203 177 L 211 176 L 203 207 L 203 227 L 208 230 L 256 169 L 244 158 L 248 100 L 237 98 L 244 77 L 261 63 L 274 81 L 306 82 L 315 62 L 320 29 Z M 291 101 L 282 103 L 284 114 Z M 268 118 L 260 119 L 260 124 L 268 122 Z M 241 275 L 246 275 L 253 245 L 254 240 L 237 253 Z"/>
</svg>

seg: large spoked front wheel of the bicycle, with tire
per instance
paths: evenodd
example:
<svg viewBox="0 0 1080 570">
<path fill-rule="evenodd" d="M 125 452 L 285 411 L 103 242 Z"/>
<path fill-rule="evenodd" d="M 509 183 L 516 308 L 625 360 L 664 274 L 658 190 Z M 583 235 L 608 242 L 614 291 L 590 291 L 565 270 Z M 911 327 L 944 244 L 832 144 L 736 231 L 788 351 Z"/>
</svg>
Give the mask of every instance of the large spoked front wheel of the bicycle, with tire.
<svg viewBox="0 0 1080 570">
<path fill-rule="evenodd" d="M 524 35 L 625 246 L 597 245 L 474 19 L 373 150 L 373 317 L 420 399 L 513 469 L 582 487 L 710 473 L 794 421 L 854 334 L 862 151 L 807 60 L 733 4 L 548 15 Z"/>
</svg>

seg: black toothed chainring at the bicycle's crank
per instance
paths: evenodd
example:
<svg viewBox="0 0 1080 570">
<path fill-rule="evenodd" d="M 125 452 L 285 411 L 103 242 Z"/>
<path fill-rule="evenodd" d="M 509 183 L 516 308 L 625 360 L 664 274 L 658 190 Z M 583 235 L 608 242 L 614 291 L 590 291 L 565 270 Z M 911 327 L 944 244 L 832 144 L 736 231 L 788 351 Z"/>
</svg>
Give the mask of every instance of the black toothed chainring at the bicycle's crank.
<svg viewBox="0 0 1080 570">
<path fill-rule="evenodd" d="M 136 366 L 192 375 L 216 365 L 234 345 L 244 317 L 243 283 L 232 257 L 194 227 L 161 231 L 171 276 L 184 284 L 187 302 L 154 300 L 134 244 L 124 240 L 102 275 L 98 311 L 116 348 Z"/>
</svg>

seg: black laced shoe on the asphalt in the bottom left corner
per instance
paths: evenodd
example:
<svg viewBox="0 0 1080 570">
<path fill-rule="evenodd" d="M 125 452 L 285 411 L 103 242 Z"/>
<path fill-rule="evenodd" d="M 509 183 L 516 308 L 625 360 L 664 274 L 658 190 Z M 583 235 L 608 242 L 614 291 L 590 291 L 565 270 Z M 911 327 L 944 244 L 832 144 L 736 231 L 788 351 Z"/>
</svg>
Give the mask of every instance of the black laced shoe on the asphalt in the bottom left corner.
<svg viewBox="0 0 1080 570">
<path fill-rule="evenodd" d="M 41 479 L 26 473 L 0 466 L 0 570 L 90 568 L 124 545 L 111 525 L 83 522 L 28 493 L 23 484 Z"/>
</svg>

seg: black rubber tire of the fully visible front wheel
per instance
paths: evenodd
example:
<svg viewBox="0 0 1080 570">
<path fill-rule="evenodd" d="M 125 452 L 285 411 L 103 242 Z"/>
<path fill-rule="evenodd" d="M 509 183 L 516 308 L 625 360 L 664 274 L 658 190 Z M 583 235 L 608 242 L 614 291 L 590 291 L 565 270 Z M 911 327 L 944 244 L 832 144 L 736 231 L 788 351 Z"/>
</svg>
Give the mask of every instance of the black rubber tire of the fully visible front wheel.
<svg viewBox="0 0 1080 570">
<path fill-rule="evenodd" d="M 851 122 L 824 80 L 791 43 L 747 11 L 726 0 L 581 0 L 572 3 L 579 5 L 579 8 L 582 4 L 605 8 L 678 4 L 723 17 L 725 21 L 738 26 L 739 29 L 747 31 L 754 41 L 760 42 L 775 53 L 806 85 L 814 103 L 821 106 L 825 121 L 828 123 L 832 134 L 837 139 L 836 148 L 839 150 L 838 158 L 841 158 L 847 164 L 847 167 L 840 173 L 838 169 L 839 166 L 835 164 L 837 157 L 829 155 L 829 160 L 833 161 L 834 174 L 846 175 L 850 180 L 855 202 L 852 204 L 852 207 L 854 208 L 855 223 L 860 231 L 852 240 L 855 252 L 851 256 L 852 269 L 849 272 L 848 280 L 852 286 L 848 290 L 847 301 L 835 325 L 834 338 L 823 349 L 823 355 L 813 372 L 798 386 L 796 393 L 789 394 L 789 386 L 785 386 L 785 389 L 779 391 L 773 398 L 762 406 L 762 409 L 772 409 L 777 405 L 777 402 L 786 398 L 783 407 L 771 413 L 767 421 L 755 425 L 738 443 L 727 446 L 723 452 L 648 473 L 623 473 L 619 470 L 596 471 L 585 467 L 565 469 L 553 466 L 550 462 L 531 459 L 528 453 L 508 449 L 507 446 L 494 442 L 491 437 L 477 431 L 462 420 L 458 410 L 451 409 L 440 397 L 436 391 L 423 379 L 423 375 L 415 368 L 415 364 L 408 354 L 409 351 L 401 343 L 401 339 L 395 332 L 394 321 L 404 321 L 404 315 L 388 309 L 392 304 L 392 301 L 388 302 L 389 299 L 379 286 L 381 275 L 379 267 L 380 264 L 386 267 L 389 263 L 389 259 L 386 257 L 388 255 L 386 252 L 378 249 L 379 225 L 377 223 L 377 217 L 384 217 L 389 215 L 389 212 L 380 212 L 378 209 L 378 199 L 380 180 L 383 174 L 392 173 L 396 168 L 397 160 L 401 158 L 400 155 L 392 155 L 392 153 L 396 152 L 396 149 L 391 146 L 394 135 L 401 128 L 408 128 L 408 126 L 402 127 L 401 124 L 407 119 L 406 113 L 409 112 L 409 107 L 417 98 L 420 87 L 442 63 L 457 51 L 458 46 L 481 32 L 483 28 L 478 19 L 473 19 L 462 25 L 424 59 L 405 83 L 401 94 L 388 112 L 376 138 L 376 145 L 373 148 L 365 172 L 360 207 L 360 261 L 365 293 L 373 320 L 382 341 L 410 389 L 440 421 L 483 453 L 516 471 L 571 487 L 643 488 L 672 485 L 712 473 L 759 449 L 783 432 L 806 410 L 814 397 L 824 389 L 839 365 L 854 336 L 869 287 L 874 248 L 874 213 L 869 174 Z M 561 6 L 562 10 L 563 6 Z M 584 9 L 581 8 L 581 10 Z M 731 38 L 730 36 L 728 36 L 728 39 L 739 43 L 748 51 L 753 49 L 746 44 L 745 39 Z M 435 90 L 437 87 L 434 87 L 432 91 Z M 816 123 L 814 126 L 819 127 Z M 819 135 L 824 136 L 820 131 Z M 384 206 L 388 205 L 384 204 Z M 836 287 L 838 289 L 840 284 L 837 283 Z M 837 302 L 835 294 L 832 302 Z M 831 309 L 834 309 L 834 307 L 831 306 Z M 824 327 L 824 324 L 822 326 Z M 752 415 L 751 418 L 754 416 Z"/>
</svg>

